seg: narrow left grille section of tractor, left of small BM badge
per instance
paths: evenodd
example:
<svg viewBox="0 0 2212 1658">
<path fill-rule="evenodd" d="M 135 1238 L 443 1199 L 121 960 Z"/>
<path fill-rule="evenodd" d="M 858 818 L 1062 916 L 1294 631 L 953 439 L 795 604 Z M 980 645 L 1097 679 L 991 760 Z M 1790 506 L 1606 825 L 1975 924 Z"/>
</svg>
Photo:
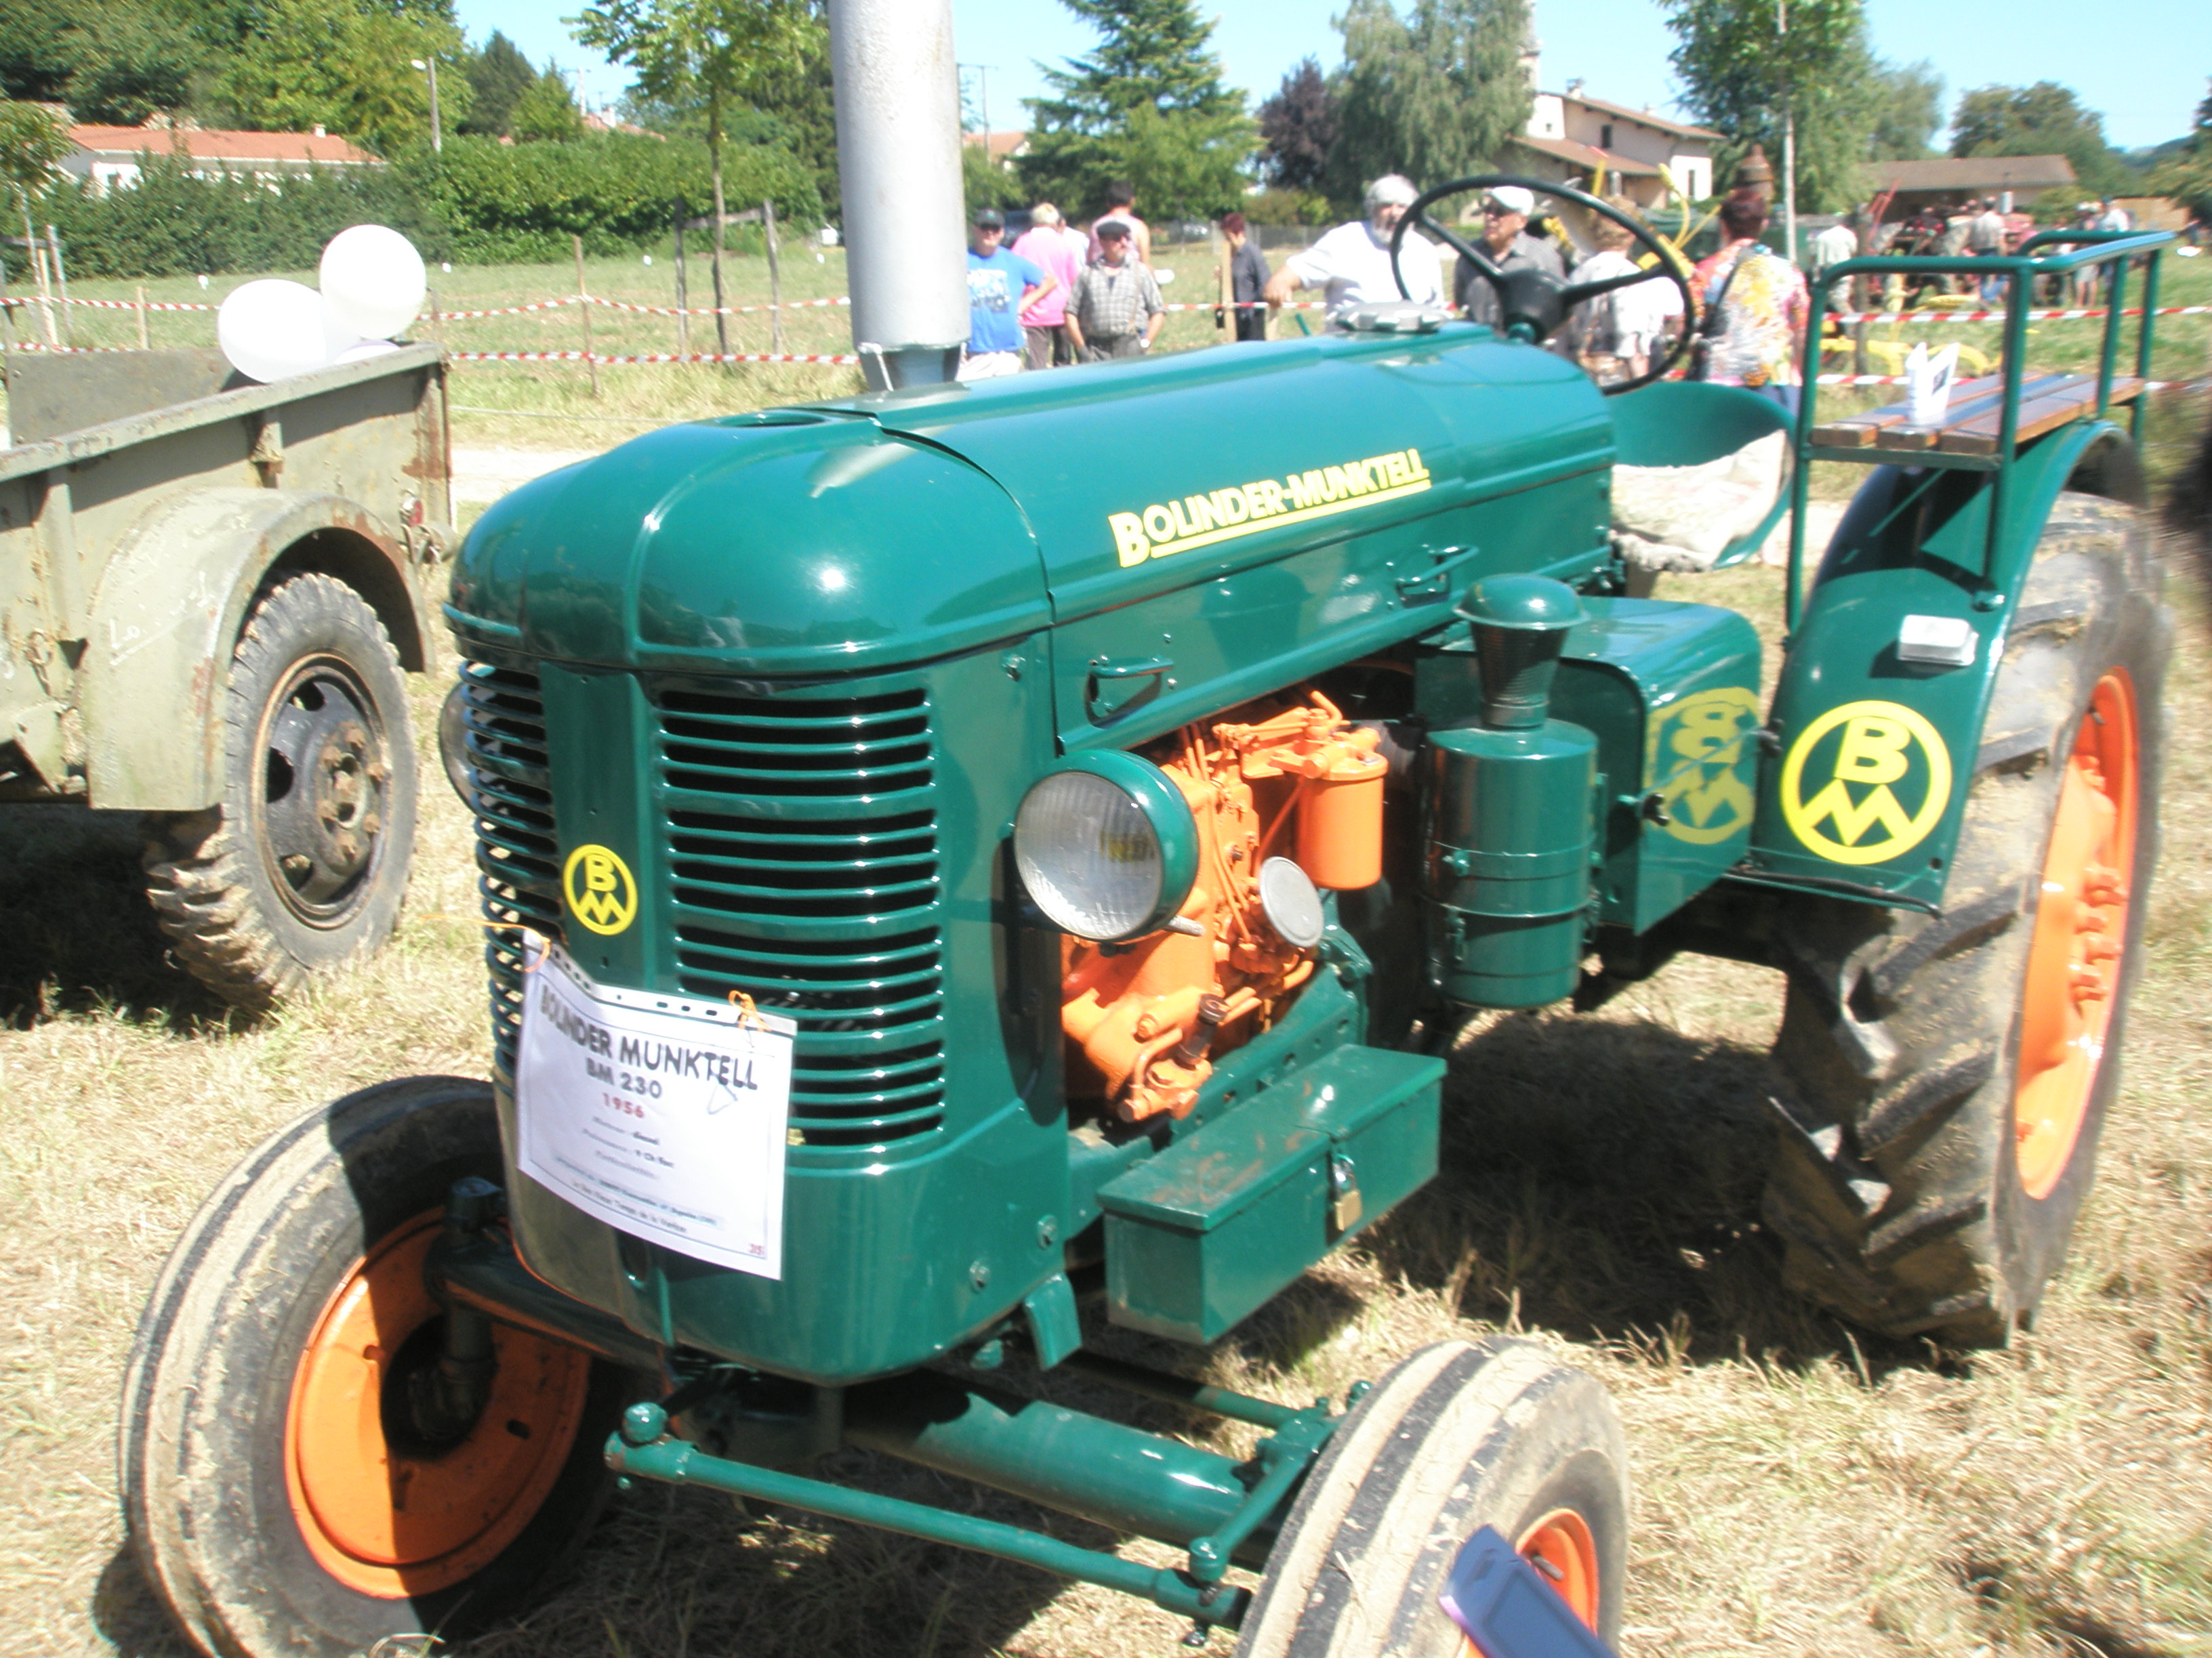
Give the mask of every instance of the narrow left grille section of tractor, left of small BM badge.
<svg viewBox="0 0 2212 1658">
<path fill-rule="evenodd" d="M 560 840 L 546 778 L 546 714 L 538 674 L 462 663 L 476 869 L 491 968 L 491 1043 L 509 1077 L 522 1035 L 522 933 L 560 937 Z"/>
</svg>

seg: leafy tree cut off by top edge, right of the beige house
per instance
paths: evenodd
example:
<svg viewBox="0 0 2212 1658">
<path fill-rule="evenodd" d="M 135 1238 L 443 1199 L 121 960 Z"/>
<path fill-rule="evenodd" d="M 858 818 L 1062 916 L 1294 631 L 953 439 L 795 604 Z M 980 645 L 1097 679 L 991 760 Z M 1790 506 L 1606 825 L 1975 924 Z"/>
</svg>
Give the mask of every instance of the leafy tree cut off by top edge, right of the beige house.
<svg viewBox="0 0 2212 1658">
<path fill-rule="evenodd" d="M 1860 0 L 1663 4 L 1681 42 L 1668 62 L 1681 75 L 1690 111 L 1732 139 L 1732 155 L 1761 144 L 1776 164 L 1783 115 L 1792 113 L 1798 208 L 1849 208 L 1876 117 L 1876 66 Z"/>
</svg>

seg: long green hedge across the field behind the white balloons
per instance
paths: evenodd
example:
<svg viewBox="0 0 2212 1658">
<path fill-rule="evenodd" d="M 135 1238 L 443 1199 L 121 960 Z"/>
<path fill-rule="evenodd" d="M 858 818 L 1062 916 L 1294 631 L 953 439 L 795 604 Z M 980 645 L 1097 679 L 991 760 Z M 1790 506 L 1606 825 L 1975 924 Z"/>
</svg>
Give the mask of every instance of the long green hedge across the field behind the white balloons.
<svg viewBox="0 0 2212 1658">
<path fill-rule="evenodd" d="M 732 212 L 776 203 L 794 234 L 823 219 L 812 172 L 774 146 L 723 146 Z M 385 223 L 425 259 L 529 263 L 659 245 L 675 203 L 692 217 L 714 199 L 706 144 L 630 135 L 573 144 L 447 139 L 445 153 L 407 155 L 380 168 L 327 168 L 270 190 L 257 179 L 195 179 L 166 157 L 148 159 L 133 190 L 95 197 L 55 183 L 33 201 L 53 223 L 73 276 L 190 276 L 197 272 L 312 270 L 323 243 L 347 225 Z M 757 241 L 732 234 L 732 245 Z M 20 254 L 11 261 L 20 281 Z"/>
</svg>

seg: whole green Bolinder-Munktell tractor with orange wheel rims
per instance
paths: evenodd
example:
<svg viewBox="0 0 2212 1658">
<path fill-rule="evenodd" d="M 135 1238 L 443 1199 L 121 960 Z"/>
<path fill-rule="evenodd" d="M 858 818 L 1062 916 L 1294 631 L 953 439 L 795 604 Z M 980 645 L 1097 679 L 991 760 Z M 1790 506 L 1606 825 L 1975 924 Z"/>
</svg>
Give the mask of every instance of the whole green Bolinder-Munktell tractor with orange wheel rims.
<svg viewBox="0 0 2212 1658">
<path fill-rule="evenodd" d="M 1938 424 L 1805 389 L 1772 696 L 1741 615 L 1628 597 L 1610 486 L 1787 416 L 1604 396 L 1540 349 L 1551 279 L 1498 276 L 1498 332 L 1376 307 L 670 427 L 509 495 L 447 608 L 491 1083 L 310 1112 L 179 1242 L 124 1399 L 157 1592 L 210 1654 L 451 1638 L 619 1479 L 1254 1658 L 1455 1654 L 1438 1589 L 1493 1525 L 1615 1636 L 1621 1433 L 1546 1351 L 1276 1404 L 1086 1318 L 1201 1351 L 1436 1174 L 1469 1010 L 1701 951 L 1787 973 L 1790 1282 L 2004 1342 L 2090 1185 L 2157 849 L 2168 619 L 2112 411 L 2163 241 L 1827 272 L 2002 272 L 2011 336 Z M 2033 279 L 2090 263 L 2101 371 L 2028 376 Z M 1869 466 L 1807 579 L 1816 460 Z M 1259 1446 L 1011 1388 L 1011 1349 Z M 818 1477 L 843 1446 L 1183 1554 Z"/>
</svg>

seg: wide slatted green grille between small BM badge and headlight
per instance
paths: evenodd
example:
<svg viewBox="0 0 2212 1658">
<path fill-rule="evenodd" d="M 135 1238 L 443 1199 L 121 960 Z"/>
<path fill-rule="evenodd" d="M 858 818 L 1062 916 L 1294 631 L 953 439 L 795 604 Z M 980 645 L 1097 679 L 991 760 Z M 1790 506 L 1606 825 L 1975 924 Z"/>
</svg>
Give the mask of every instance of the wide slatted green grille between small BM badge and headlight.
<svg viewBox="0 0 2212 1658">
<path fill-rule="evenodd" d="M 807 1145 L 929 1134 L 945 1121 L 945 977 L 927 692 L 648 694 L 681 988 L 743 990 L 799 1024 L 792 1127 Z"/>
</svg>

